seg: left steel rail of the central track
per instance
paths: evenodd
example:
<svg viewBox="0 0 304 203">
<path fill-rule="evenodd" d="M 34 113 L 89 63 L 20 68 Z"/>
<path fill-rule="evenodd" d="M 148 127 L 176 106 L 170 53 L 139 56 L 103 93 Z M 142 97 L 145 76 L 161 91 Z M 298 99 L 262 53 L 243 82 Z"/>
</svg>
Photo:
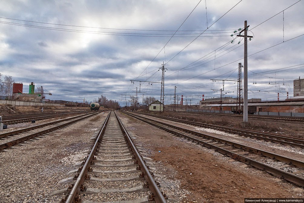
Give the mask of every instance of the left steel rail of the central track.
<svg viewBox="0 0 304 203">
<path fill-rule="evenodd" d="M 88 168 L 91 165 L 91 161 L 93 160 L 94 156 L 95 156 L 95 151 L 97 149 L 97 146 L 99 145 L 99 141 L 101 141 L 101 138 L 105 132 L 105 128 L 109 122 L 109 117 L 110 117 L 111 112 L 108 114 L 108 116 L 105 119 L 105 122 L 102 126 L 102 129 L 99 131 L 98 136 L 96 138 L 96 141 L 92 147 L 91 152 L 88 155 L 88 158 L 85 160 L 85 164 L 81 170 L 81 172 L 79 173 L 79 176 L 77 177 L 76 182 L 74 183 L 70 193 L 67 195 L 67 199 L 66 199 L 66 203 L 73 203 L 75 202 L 75 198 L 78 197 L 78 194 L 80 192 L 80 187 L 81 184 L 84 183 L 85 181 L 85 175 L 88 173 Z"/>
</svg>

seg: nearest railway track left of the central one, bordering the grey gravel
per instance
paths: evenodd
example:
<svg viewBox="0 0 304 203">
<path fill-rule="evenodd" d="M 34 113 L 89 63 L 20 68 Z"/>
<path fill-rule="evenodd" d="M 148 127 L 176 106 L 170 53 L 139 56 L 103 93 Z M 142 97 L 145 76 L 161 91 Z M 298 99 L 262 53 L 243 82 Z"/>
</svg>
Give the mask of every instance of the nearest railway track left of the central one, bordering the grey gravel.
<svg viewBox="0 0 304 203">
<path fill-rule="evenodd" d="M 36 125 L 29 128 L 23 128 L 16 131 L 9 131 L 0 134 L 0 150 L 11 147 L 13 145 L 19 144 L 20 142 L 25 142 L 30 139 L 42 138 L 39 137 L 48 132 L 54 131 L 58 128 L 63 128 L 67 125 L 73 124 L 77 121 L 83 120 L 85 118 L 91 117 L 95 114 L 101 112 L 94 112 L 89 114 L 81 114 L 78 116 L 60 119 L 58 121 L 52 121 L 45 124 Z M 36 137 L 36 138 L 35 138 Z"/>
</svg>

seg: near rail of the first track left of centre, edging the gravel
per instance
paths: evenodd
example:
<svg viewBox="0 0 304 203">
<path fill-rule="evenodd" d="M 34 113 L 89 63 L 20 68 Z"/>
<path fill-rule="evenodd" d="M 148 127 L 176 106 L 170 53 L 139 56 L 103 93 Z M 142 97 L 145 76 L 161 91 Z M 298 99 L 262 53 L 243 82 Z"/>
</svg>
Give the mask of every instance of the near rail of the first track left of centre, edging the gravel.
<svg viewBox="0 0 304 203">
<path fill-rule="evenodd" d="M 57 126 L 55 126 L 55 127 L 48 128 L 48 129 L 45 129 L 45 130 L 43 130 L 43 131 L 39 131 L 39 132 L 33 133 L 33 134 L 31 134 L 31 135 L 26 135 L 26 136 L 24 136 L 24 137 L 17 138 L 17 139 L 15 139 L 15 140 L 12 140 L 12 141 L 9 141 L 9 142 L 0 144 L 0 150 L 5 149 L 5 148 L 8 148 L 8 147 L 11 147 L 12 145 L 19 144 L 20 142 L 24 142 L 24 141 L 26 141 L 26 140 L 28 140 L 28 139 L 31 139 L 31 138 L 34 138 L 34 137 L 36 137 L 36 136 L 38 136 L 38 135 L 42 135 L 42 134 L 44 134 L 44 133 L 47 133 L 47 132 L 50 132 L 50 131 L 54 131 L 54 130 L 56 130 L 56 129 L 58 129 L 58 128 L 62 128 L 62 127 L 64 127 L 64 126 L 67 126 L 67 125 L 69 125 L 69 124 L 75 123 L 75 122 L 80 121 L 80 120 L 82 120 L 82 119 L 85 119 L 85 118 L 87 118 L 87 117 L 91 117 L 91 116 L 93 116 L 93 115 L 94 115 L 94 114 L 90 114 L 90 115 L 88 115 L 88 116 L 85 116 L 85 117 L 82 117 L 82 118 L 78 118 L 78 119 L 76 119 L 76 120 L 69 121 L 69 122 L 67 122 L 67 123 L 60 124 L 60 125 L 57 125 Z"/>
</svg>

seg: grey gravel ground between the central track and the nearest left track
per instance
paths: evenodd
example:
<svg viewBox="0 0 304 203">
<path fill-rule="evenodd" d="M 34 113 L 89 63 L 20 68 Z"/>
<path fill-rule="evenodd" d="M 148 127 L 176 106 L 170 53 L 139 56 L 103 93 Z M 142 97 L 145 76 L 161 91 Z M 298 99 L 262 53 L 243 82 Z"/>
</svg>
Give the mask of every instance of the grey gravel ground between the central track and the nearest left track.
<svg viewBox="0 0 304 203">
<path fill-rule="evenodd" d="M 49 194 L 68 186 L 58 181 L 71 176 L 73 161 L 83 158 L 79 152 L 105 117 L 98 114 L 0 152 L 0 202 L 59 202 L 59 196 Z"/>
</svg>

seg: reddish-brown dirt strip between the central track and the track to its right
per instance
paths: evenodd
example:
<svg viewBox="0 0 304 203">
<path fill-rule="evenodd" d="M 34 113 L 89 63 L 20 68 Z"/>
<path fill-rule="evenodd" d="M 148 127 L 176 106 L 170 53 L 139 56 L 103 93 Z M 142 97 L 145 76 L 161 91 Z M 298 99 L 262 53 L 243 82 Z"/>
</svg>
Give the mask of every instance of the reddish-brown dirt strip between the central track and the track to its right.
<svg viewBox="0 0 304 203">
<path fill-rule="evenodd" d="M 182 114 L 184 115 L 184 114 Z M 244 198 L 303 198 L 304 190 L 270 174 L 194 145 L 125 114 L 119 115 L 154 161 L 191 191 L 183 202 L 240 203 Z M 159 152 L 161 151 L 161 152 Z M 166 173 L 162 173 L 164 175 Z M 174 198 L 174 197 L 173 197 Z"/>
</svg>

